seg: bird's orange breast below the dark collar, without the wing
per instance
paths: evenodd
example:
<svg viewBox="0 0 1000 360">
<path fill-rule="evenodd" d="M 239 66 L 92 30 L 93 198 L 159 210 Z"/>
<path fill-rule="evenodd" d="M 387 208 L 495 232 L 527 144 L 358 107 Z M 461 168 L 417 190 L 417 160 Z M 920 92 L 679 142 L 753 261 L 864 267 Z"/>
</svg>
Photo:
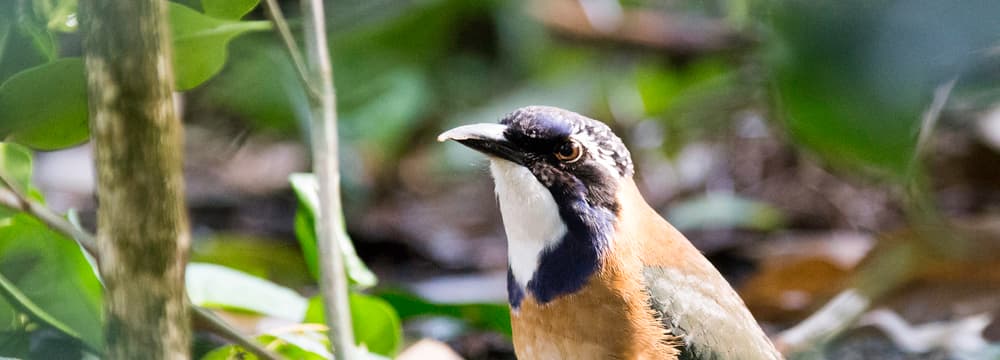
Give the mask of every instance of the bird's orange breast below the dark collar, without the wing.
<svg viewBox="0 0 1000 360">
<path fill-rule="evenodd" d="M 642 264 L 630 246 L 614 249 L 583 289 L 539 304 L 526 294 L 511 310 L 518 359 L 677 358 L 647 302 Z"/>
</svg>

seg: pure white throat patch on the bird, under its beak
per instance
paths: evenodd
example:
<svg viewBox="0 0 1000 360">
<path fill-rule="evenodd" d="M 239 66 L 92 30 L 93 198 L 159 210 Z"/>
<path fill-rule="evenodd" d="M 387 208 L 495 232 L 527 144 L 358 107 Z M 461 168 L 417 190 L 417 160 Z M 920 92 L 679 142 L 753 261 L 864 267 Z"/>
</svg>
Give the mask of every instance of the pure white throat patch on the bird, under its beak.
<svg viewBox="0 0 1000 360">
<path fill-rule="evenodd" d="M 525 288 L 538 269 L 542 251 L 566 234 L 559 207 L 549 189 L 531 171 L 513 162 L 491 158 L 500 214 L 507 232 L 507 261 L 514 280 Z"/>
</svg>

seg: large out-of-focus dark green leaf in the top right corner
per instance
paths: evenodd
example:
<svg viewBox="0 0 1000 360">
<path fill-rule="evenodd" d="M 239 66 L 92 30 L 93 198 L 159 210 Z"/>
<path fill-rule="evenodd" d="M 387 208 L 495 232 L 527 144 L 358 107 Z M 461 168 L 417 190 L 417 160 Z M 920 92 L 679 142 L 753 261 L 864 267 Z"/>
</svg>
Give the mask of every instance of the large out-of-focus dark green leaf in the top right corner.
<svg viewBox="0 0 1000 360">
<path fill-rule="evenodd" d="M 997 44 L 991 0 L 790 0 L 767 62 L 788 130 L 840 164 L 903 179 L 934 89 Z"/>
</svg>

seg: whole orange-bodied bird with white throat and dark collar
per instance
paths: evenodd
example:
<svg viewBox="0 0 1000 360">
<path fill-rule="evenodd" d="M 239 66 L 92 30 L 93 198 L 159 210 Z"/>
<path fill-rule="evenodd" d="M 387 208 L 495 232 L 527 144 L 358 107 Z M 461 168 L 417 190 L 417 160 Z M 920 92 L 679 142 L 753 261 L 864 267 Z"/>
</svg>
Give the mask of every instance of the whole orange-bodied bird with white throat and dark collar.
<svg viewBox="0 0 1000 360">
<path fill-rule="evenodd" d="M 606 124 L 527 106 L 437 140 L 490 160 L 519 359 L 781 359 L 719 271 L 642 197 Z"/>
</svg>

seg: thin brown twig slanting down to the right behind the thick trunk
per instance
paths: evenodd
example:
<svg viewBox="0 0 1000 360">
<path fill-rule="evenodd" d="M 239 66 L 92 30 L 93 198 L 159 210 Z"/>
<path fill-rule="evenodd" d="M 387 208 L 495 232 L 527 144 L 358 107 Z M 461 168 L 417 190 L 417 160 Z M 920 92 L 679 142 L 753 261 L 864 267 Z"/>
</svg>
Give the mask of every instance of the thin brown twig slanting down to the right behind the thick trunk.
<svg viewBox="0 0 1000 360">
<path fill-rule="evenodd" d="M 80 247 L 82 247 L 91 257 L 93 257 L 95 261 L 100 261 L 100 258 L 98 257 L 99 253 L 97 252 L 97 240 L 94 239 L 93 235 L 77 228 L 45 205 L 39 204 L 27 196 L 24 196 L 12 185 L 13 183 L 7 180 L 6 175 L 0 173 L 0 206 L 12 210 L 18 210 L 33 216 L 52 230 L 75 240 L 76 243 L 79 244 Z M 243 336 L 240 334 L 239 330 L 236 330 L 225 321 L 222 321 L 215 315 L 212 315 L 212 313 L 208 310 L 191 304 L 191 300 L 187 301 L 188 308 L 191 309 L 191 316 L 195 320 L 204 322 L 215 333 L 221 335 L 229 341 L 243 346 L 261 359 L 279 360 L 282 358 L 281 356 L 264 349 L 253 340 Z"/>
</svg>

